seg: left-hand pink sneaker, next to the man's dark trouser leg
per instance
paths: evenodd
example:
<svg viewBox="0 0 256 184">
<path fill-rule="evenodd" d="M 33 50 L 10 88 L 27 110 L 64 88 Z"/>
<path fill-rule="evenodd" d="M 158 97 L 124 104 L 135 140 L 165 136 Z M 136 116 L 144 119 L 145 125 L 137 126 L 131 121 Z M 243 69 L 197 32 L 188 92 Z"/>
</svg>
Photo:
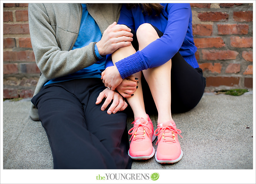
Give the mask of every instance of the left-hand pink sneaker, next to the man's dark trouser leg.
<svg viewBox="0 0 256 184">
<path fill-rule="evenodd" d="M 154 127 L 152 121 L 147 115 L 148 120 L 143 118 L 135 118 L 134 127 L 132 127 L 128 134 L 131 135 L 131 144 L 128 151 L 128 155 L 135 160 L 149 159 L 155 154 L 155 149 L 152 146 L 152 142 L 155 140 Z M 130 133 L 130 131 L 132 132 Z"/>
</svg>

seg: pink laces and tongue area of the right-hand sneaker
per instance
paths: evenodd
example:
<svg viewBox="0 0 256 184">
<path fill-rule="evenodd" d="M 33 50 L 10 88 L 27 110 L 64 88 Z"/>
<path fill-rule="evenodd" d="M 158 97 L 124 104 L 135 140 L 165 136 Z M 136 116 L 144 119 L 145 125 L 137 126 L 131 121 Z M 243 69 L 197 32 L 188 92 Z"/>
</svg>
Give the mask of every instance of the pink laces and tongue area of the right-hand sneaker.
<svg viewBox="0 0 256 184">
<path fill-rule="evenodd" d="M 171 131 L 172 133 L 175 133 L 175 134 L 179 134 L 179 136 L 182 138 L 182 136 L 180 135 L 181 134 L 181 130 L 180 129 L 176 129 L 175 127 L 171 126 L 171 125 L 168 125 L 168 126 L 163 126 L 163 127 L 158 127 L 155 131 L 154 131 L 154 134 L 156 136 L 158 136 L 159 134 L 162 133 L 162 135 L 160 136 L 160 138 L 157 140 L 157 143 L 161 140 L 161 138 L 163 137 L 163 134 L 166 132 L 166 131 Z M 156 132 L 158 132 L 156 134 Z M 167 132 L 166 132 L 167 133 Z M 174 140 L 174 136 L 172 133 L 168 132 L 169 135 L 164 135 L 164 139 L 163 139 L 163 142 L 173 142 L 175 143 L 176 141 Z M 157 145 L 156 143 L 156 145 Z"/>
</svg>

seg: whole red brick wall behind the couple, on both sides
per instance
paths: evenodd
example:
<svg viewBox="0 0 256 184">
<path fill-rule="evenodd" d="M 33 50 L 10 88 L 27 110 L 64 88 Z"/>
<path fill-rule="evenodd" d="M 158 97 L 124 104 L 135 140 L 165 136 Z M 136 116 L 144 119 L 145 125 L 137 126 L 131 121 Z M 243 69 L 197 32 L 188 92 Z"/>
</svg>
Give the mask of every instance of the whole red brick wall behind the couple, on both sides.
<svg viewBox="0 0 256 184">
<path fill-rule="evenodd" d="M 253 87 L 253 4 L 191 3 L 196 57 L 206 92 Z M 3 3 L 3 98 L 32 97 L 39 69 L 28 3 Z"/>
</svg>

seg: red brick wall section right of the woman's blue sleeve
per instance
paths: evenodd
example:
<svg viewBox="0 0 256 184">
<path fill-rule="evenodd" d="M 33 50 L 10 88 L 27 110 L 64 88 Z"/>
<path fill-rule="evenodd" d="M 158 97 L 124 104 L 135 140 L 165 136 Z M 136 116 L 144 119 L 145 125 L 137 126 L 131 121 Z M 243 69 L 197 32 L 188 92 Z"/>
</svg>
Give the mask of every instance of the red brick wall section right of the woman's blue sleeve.
<svg viewBox="0 0 256 184">
<path fill-rule="evenodd" d="M 190 3 L 206 92 L 253 88 L 253 4 Z"/>
</svg>

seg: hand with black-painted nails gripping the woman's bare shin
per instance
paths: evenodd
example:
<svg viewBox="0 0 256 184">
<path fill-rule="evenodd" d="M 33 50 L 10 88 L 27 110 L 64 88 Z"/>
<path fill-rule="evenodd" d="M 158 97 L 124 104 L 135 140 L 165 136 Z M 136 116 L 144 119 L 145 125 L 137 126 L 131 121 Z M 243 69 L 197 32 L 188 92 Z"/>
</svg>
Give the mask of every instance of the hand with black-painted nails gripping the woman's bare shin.
<svg viewBox="0 0 256 184">
<path fill-rule="evenodd" d="M 133 75 L 123 79 L 121 84 L 117 86 L 115 89 L 122 95 L 124 98 L 130 98 L 133 96 L 134 92 L 138 88 L 138 78 L 134 77 Z"/>
</svg>

